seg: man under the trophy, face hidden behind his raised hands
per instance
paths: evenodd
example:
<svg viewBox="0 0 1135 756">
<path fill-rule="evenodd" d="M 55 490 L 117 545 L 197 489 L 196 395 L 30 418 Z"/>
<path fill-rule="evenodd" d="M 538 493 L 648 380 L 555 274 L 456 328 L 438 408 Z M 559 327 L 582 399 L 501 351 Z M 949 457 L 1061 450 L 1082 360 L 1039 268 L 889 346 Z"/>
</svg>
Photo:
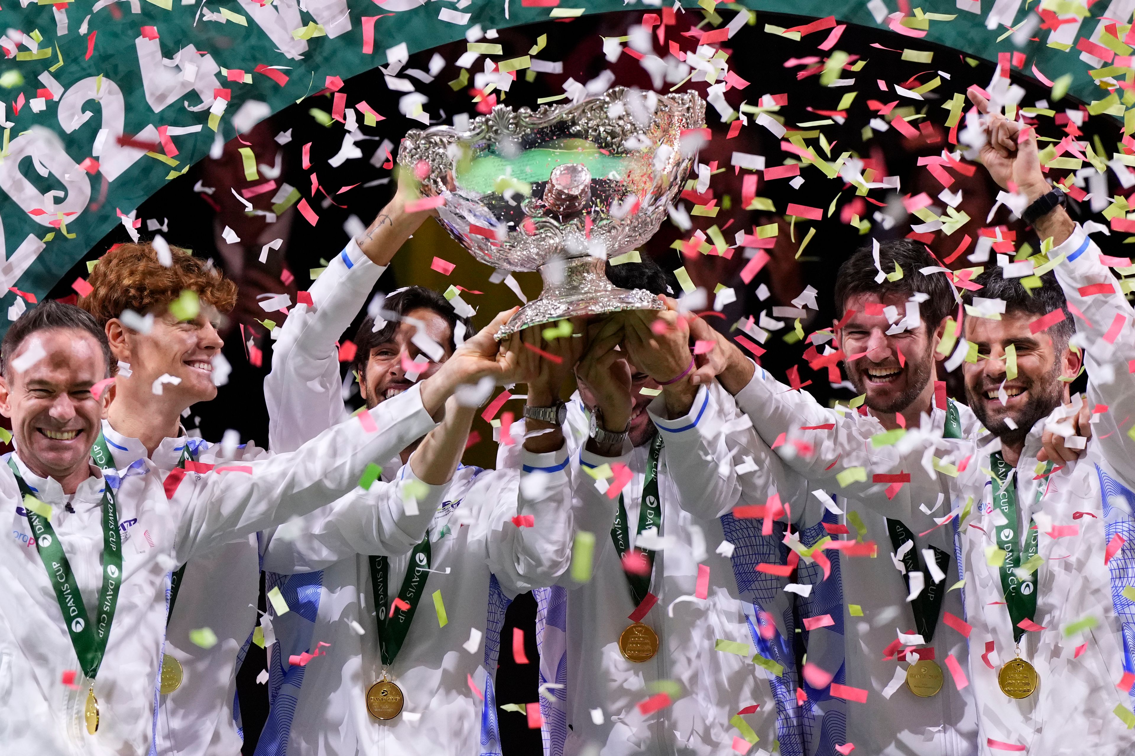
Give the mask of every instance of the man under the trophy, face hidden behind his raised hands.
<svg viewBox="0 0 1135 756">
<path fill-rule="evenodd" d="M 672 277 L 645 256 L 608 266 L 607 278 L 673 290 Z M 738 418 L 721 404 L 732 400 L 720 387 L 690 382 L 679 313 L 615 313 L 592 331 L 565 433 L 581 465 L 577 527 L 595 538 L 591 576 L 565 576 L 537 595 L 541 681 L 565 686 L 555 702 L 541 702 L 547 751 L 703 756 L 729 750 L 743 727 L 793 753 L 785 581 L 756 567 L 783 563 L 783 528 L 763 535 L 757 519 L 733 517 L 733 507 L 764 504 L 777 489 L 794 502 L 806 490 L 799 478 L 794 491 L 777 479 L 780 460 L 738 424 L 733 433 L 751 436 L 746 453 L 760 469 L 742 494 L 724 433 Z M 756 674 L 753 651 L 763 665 Z M 681 693 L 649 699 L 667 681 Z M 739 712 L 741 725 L 731 721 Z"/>
</svg>

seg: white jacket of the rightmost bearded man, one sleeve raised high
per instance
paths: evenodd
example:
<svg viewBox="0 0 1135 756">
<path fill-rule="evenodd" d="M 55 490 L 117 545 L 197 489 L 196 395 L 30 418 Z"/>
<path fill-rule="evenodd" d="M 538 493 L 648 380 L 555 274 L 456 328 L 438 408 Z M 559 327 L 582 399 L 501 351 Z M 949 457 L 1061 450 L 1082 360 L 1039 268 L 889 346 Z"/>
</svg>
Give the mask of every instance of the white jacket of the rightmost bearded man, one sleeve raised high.
<svg viewBox="0 0 1135 756">
<path fill-rule="evenodd" d="M 1018 753 L 1036 756 L 1110 756 L 1130 753 L 1135 747 L 1135 731 L 1116 714 L 1120 705 L 1130 711 L 1133 698 L 1116 686 L 1125 671 L 1135 671 L 1135 608 L 1123 595 L 1135 581 L 1135 545 L 1129 543 L 1135 538 L 1135 520 L 1129 515 L 1135 507 L 1135 441 L 1128 435 L 1135 415 L 1135 375 L 1129 368 L 1135 358 L 1135 313 L 1120 294 L 1079 294 L 1084 287 L 1115 283 L 1083 229 L 1077 227 L 1049 254 L 1053 260 L 1063 256 L 1056 274 L 1068 303 L 1079 311 L 1075 317 L 1086 343 L 1088 399 L 1108 409 L 1096 416 L 1093 436 L 1078 461 L 1053 472 L 1048 479 L 1035 479 L 1044 428 L 1044 423 L 1039 422 L 1017 465 L 1018 521 L 1032 519 L 1032 525 L 1040 527 L 1040 557 L 1044 560 L 1037 570 L 1034 617 L 1044 629 L 1027 632 L 1020 647 L 1022 657 L 1040 676 L 1039 690 L 1028 698 L 1004 696 L 997 680 L 1001 664 L 1014 657 L 1014 638 L 999 570 L 987 563 L 985 553 L 995 545 L 993 528 L 1003 524 L 991 507 L 987 473 L 989 455 L 997 449 L 989 444 L 995 439 L 983 435 L 970 441 L 947 441 L 927 434 L 911 449 L 903 444 L 873 449 L 865 427 L 849 418 L 836 418 L 834 431 L 800 432 L 796 428 L 801 425 L 831 422 L 833 414 L 760 369 L 750 384 L 751 401 L 745 405 L 762 434 L 787 431 L 790 439 L 802 438 L 816 445 L 814 458 L 797 457 L 789 462 L 813 479 L 822 478 L 823 469 L 839 457 L 839 464 L 826 475 L 863 466 L 868 470 L 868 481 L 872 474 L 905 472 L 910 474 L 911 485 L 930 486 L 932 483 L 919 478 L 932 477 L 926 470 L 932 464 L 926 456 L 931 444 L 936 448 L 934 456 L 945 462 L 960 467 L 962 460 L 967 461 L 957 477 L 939 473 L 936 478 L 949 492 L 953 509 L 961 510 L 972 501 L 972 511 L 960 524 L 955 519 L 955 524 L 966 577 L 965 620 L 973 626 L 966 672 L 977 706 L 983 756 L 1006 753 L 1006 744 Z M 1113 342 L 1104 342 L 1102 337 L 1117 322 Z M 1034 506 L 1041 485 L 1045 491 Z M 889 513 L 898 508 L 886 500 L 883 489 L 884 484 L 868 482 L 851 483 L 846 491 L 876 511 Z M 933 525 L 930 518 L 926 520 Z M 1053 536 L 1052 527 L 1065 529 Z M 1104 564 L 1107 546 L 1116 535 L 1128 543 Z M 1065 637 L 1065 628 L 1085 618 L 1093 619 L 1095 627 Z M 990 647 L 992 653 L 986 654 Z M 952 685 L 949 677 L 947 686 Z"/>
</svg>

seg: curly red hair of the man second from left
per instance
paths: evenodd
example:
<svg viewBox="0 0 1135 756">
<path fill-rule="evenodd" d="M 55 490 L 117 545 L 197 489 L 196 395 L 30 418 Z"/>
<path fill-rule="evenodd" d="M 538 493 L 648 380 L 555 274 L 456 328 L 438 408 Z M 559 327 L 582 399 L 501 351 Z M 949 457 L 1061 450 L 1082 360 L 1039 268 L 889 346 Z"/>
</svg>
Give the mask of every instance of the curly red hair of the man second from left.
<svg viewBox="0 0 1135 756">
<path fill-rule="evenodd" d="M 91 272 L 87 283 L 93 290 L 78 299 L 78 306 L 106 325 L 126 309 L 138 314 L 162 309 L 184 289 L 190 289 L 219 312 L 233 309 L 236 283 L 186 249 L 170 246 L 169 250 L 174 264 L 166 267 L 158 262 L 158 253 L 149 241 L 111 248 Z"/>
</svg>

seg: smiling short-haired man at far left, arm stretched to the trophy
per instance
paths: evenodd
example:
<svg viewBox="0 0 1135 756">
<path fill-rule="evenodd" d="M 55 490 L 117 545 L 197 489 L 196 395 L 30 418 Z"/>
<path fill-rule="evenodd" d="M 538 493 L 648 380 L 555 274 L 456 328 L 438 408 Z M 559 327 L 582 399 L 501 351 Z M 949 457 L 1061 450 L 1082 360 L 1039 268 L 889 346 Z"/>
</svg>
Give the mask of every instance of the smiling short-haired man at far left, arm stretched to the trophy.
<svg viewBox="0 0 1135 756">
<path fill-rule="evenodd" d="M 519 356 L 480 333 L 412 391 L 295 453 L 167 475 L 146 460 L 119 468 L 100 433 L 106 351 L 90 315 L 54 303 L 3 343 L 0 413 L 16 451 L 0 469 L 15 536 L 0 544 L 14 592 L 0 659 L 14 754 L 148 753 L 170 569 L 346 494 L 372 460 L 434 427 L 461 384 L 504 379 Z"/>
</svg>

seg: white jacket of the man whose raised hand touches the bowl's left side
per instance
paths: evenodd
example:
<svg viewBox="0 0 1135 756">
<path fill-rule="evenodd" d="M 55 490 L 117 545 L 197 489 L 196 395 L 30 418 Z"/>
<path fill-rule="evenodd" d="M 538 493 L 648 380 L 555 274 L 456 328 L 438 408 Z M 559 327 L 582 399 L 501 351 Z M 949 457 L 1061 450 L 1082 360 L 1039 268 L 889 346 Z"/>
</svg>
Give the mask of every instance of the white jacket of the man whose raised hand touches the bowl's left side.
<svg viewBox="0 0 1135 756">
<path fill-rule="evenodd" d="M 314 308 L 300 305 L 288 315 L 264 384 L 274 449 L 344 414 L 335 341 L 380 273 L 351 243 L 312 286 Z M 266 534 L 268 585 L 280 588 L 291 611 L 272 618 L 271 713 L 259 755 L 499 753 L 493 676 L 505 609 L 511 596 L 550 585 L 568 568 L 573 533 L 566 451 L 532 455 L 519 444 L 510 469 L 461 467 L 448 485 L 429 486 L 418 516 L 405 513 L 397 485 L 388 483 L 413 476 L 395 458 L 370 501 L 339 501 Z M 526 495 L 521 484 L 533 475 L 544 485 Z M 514 525 L 518 515 L 531 515 L 535 527 Z M 437 572 L 387 670 L 405 695 L 403 713 L 382 722 L 370 716 L 364 699 L 382 671 L 368 557 L 388 555 L 390 602 L 410 550 L 427 530 Z M 444 627 L 435 592 L 445 606 Z M 470 651 L 471 635 L 479 640 Z M 288 664 L 319 643 L 330 644 L 322 647 L 326 656 Z M 504 643 L 508 648 L 511 638 Z"/>
</svg>

